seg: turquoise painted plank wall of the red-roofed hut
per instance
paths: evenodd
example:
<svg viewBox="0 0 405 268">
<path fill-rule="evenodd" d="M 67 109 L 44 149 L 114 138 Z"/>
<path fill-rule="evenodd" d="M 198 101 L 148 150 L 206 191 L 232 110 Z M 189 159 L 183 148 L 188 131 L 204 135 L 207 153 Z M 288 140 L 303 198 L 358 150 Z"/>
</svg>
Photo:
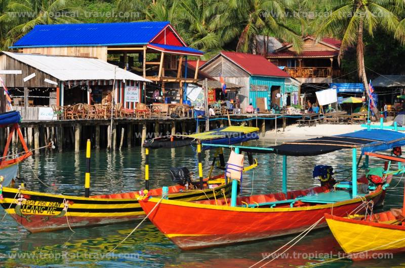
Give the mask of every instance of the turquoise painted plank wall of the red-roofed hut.
<svg viewBox="0 0 405 268">
<path fill-rule="evenodd" d="M 286 91 L 286 79 L 280 77 L 267 77 L 267 76 L 251 76 L 250 85 L 262 85 L 268 86 L 268 91 L 249 91 L 249 102 L 253 104 L 253 107 L 256 108 L 256 98 L 267 97 L 267 107 L 270 107 L 271 101 L 271 86 L 279 86 L 281 94 L 284 94 Z M 289 86 L 290 87 L 290 86 Z M 298 90 L 296 90 L 298 91 Z M 291 92 L 291 91 L 287 91 Z M 257 94 L 256 94 L 257 93 Z"/>
</svg>

